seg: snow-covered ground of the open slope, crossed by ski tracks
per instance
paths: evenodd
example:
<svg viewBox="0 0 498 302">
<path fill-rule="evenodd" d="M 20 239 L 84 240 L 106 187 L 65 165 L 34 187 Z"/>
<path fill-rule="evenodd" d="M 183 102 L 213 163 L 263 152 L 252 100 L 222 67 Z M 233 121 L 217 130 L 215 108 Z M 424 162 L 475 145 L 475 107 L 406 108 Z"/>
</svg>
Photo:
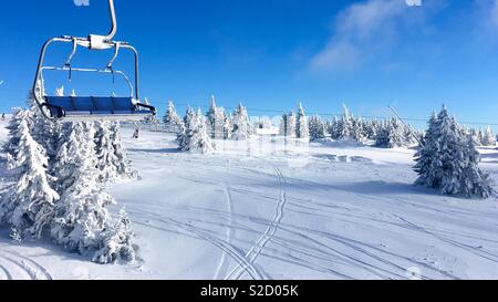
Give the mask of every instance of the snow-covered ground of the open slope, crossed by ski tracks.
<svg viewBox="0 0 498 302">
<path fill-rule="evenodd" d="M 263 137 L 191 155 L 163 133 L 131 136 L 142 179 L 110 191 L 141 260 L 93 264 L 3 230 L 0 280 L 498 279 L 497 200 L 414 187 L 413 150 Z M 498 180 L 498 150 L 481 152 Z"/>
</svg>

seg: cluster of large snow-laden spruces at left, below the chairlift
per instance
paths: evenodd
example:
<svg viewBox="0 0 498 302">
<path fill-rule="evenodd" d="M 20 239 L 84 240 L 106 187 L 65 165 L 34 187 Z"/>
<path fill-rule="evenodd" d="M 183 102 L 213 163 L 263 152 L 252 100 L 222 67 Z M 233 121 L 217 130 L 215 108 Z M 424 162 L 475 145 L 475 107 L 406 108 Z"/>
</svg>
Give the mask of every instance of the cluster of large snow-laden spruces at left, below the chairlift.
<svg viewBox="0 0 498 302">
<path fill-rule="evenodd" d="M 0 198 L 0 225 L 18 237 L 46 238 L 98 263 L 133 261 L 133 231 L 106 185 L 134 179 L 116 122 L 53 123 L 15 110 L 4 144 L 10 185 Z"/>
</svg>

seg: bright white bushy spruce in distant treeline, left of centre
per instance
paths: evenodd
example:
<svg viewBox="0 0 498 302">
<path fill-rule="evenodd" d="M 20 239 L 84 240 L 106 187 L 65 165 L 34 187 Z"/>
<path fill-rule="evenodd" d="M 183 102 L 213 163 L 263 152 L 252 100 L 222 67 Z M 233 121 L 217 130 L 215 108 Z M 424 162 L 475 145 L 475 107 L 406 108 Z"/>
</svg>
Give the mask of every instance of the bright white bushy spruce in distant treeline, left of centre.
<svg viewBox="0 0 498 302">
<path fill-rule="evenodd" d="M 178 148 L 181 152 L 207 154 L 215 149 L 200 110 L 197 113 L 187 110 L 184 122 L 185 131 L 178 138 Z"/>
</svg>

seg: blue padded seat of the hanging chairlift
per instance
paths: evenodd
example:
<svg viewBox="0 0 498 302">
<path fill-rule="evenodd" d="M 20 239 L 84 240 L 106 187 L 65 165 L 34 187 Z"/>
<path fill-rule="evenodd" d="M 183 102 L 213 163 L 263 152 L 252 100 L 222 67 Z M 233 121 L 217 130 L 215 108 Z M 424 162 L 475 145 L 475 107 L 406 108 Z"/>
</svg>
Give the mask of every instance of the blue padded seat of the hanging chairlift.
<svg viewBox="0 0 498 302">
<path fill-rule="evenodd" d="M 45 96 L 52 117 L 65 119 L 142 119 L 155 108 L 133 97 L 117 96 Z"/>
</svg>

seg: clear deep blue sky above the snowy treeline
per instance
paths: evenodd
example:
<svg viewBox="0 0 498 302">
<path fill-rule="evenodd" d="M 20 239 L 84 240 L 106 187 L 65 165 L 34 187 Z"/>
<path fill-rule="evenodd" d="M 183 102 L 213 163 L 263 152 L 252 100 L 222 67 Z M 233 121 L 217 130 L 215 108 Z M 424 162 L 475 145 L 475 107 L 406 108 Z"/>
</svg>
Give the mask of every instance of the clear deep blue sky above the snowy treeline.
<svg viewBox="0 0 498 302">
<path fill-rule="evenodd" d="M 394 105 L 426 118 L 445 103 L 459 121 L 498 123 L 497 0 L 115 2 L 116 39 L 139 50 L 142 95 L 160 112 L 167 100 L 183 111 L 215 94 L 227 107 L 243 102 L 250 115 L 273 116 L 301 101 L 310 114 L 338 113 L 345 103 L 357 115 L 385 116 Z M 9 111 L 24 104 L 44 40 L 106 33 L 106 1 L 9 1 L 0 29 L 0 110 Z M 54 48 L 48 60 L 62 64 L 69 51 Z M 112 55 L 83 52 L 74 65 L 100 66 Z M 118 66 L 129 70 L 131 61 L 123 55 Z M 49 80 L 49 90 L 61 83 L 79 94 L 123 84 Z"/>
</svg>

